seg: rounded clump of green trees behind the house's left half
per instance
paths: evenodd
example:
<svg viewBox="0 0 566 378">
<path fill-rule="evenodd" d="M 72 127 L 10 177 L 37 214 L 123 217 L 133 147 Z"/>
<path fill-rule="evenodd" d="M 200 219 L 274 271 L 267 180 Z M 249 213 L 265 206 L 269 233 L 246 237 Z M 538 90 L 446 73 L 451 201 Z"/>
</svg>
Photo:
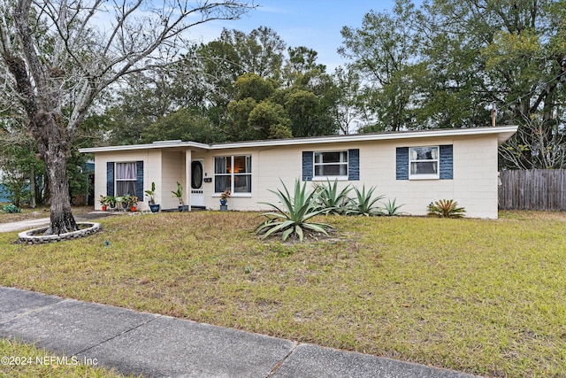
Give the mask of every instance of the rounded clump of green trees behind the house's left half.
<svg viewBox="0 0 566 378">
<path fill-rule="evenodd" d="M 148 143 L 164 137 L 213 143 L 334 134 L 338 93 L 332 76 L 317 64 L 316 51 L 290 48 L 285 59 L 285 47 L 268 27 L 248 35 L 224 29 L 217 40 L 191 48 L 166 73 L 131 76 L 119 96 L 107 101 L 111 106 L 104 115 L 111 127 L 106 143 Z M 187 122 L 196 114 L 194 125 Z M 210 127 L 201 127 L 202 118 Z M 171 120 L 180 124 L 173 127 Z M 209 130 L 210 137 L 203 137 L 203 130 Z"/>
</svg>

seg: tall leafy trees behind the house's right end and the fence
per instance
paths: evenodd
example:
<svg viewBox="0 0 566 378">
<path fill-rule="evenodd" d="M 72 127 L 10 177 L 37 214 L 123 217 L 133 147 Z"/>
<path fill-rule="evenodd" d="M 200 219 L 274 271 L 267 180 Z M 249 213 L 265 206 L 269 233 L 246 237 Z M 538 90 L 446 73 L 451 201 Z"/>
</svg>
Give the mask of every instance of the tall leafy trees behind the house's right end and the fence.
<svg viewBox="0 0 566 378">
<path fill-rule="evenodd" d="M 368 85 L 358 109 L 364 131 L 515 123 L 505 165 L 563 167 L 566 2 L 432 0 L 420 9 L 368 13 L 342 30 L 340 51 Z M 552 152 L 551 152 L 552 151 Z"/>
</svg>

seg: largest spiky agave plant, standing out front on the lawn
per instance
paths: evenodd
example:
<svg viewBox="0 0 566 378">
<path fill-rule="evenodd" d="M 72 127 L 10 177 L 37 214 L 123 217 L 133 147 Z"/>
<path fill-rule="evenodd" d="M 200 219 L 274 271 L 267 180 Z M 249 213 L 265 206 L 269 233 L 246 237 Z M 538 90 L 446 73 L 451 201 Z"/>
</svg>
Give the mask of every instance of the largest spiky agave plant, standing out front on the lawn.
<svg viewBox="0 0 566 378">
<path fill-rule="evenodd" d="M 264 212 L 265 220 L 257 226 L 256 235 L 263 235 L 262 239 L 269 235 L 281 234 L 281 239 L 285 242 L 289 236 L 296 236 L 302 242 L 305 233 L 320 233 L 328 235 L 327 230 L 333 227 L 325 223 L 315 223 L 309 220 L 327 209 L 321 209 L 317 203 L 320 192 L 316 190 L 307 191 L 306 182 L 301 185 L 301 181 L 294 181 L 294 194 L 291 196 L 287 187 L 283 184 L 283 191 L 278 189 L 270 190 L 275 194 L 281 205 L 261 202 L 275 209 L 274 212 Z"/>
</svg>

